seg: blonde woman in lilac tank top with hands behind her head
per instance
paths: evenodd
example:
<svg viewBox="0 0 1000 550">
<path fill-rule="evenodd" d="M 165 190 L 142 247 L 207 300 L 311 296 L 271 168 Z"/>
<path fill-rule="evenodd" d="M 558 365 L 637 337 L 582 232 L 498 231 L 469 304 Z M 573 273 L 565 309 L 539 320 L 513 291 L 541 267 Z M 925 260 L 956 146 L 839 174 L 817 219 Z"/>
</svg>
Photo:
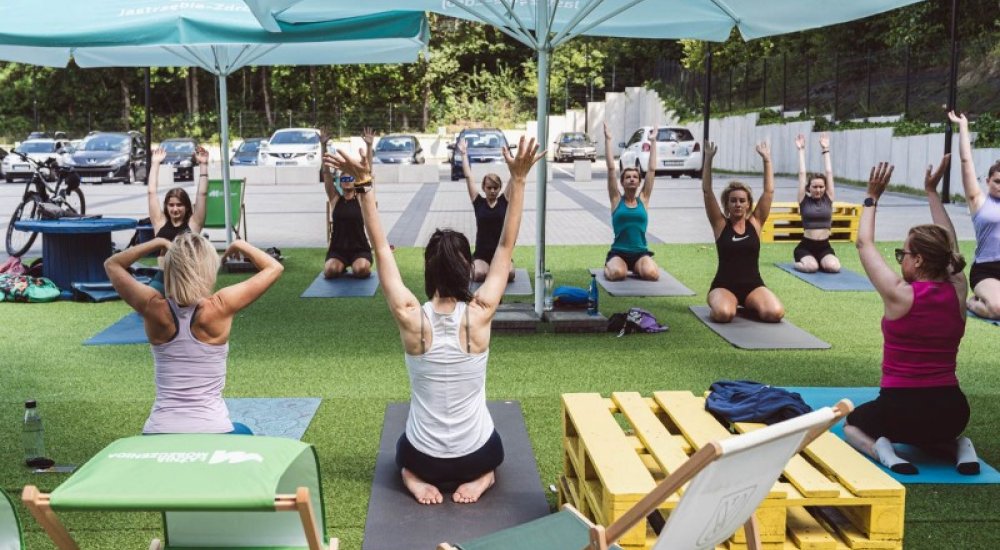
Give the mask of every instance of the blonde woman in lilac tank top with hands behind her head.
<svg viewBox="0 0 1000 550">
<path fill-rule="evenodd" d="M 165 294 L 128 272 L 133 262 L 161 250 Z M 173 243 L 156 238 L 104 262 L 115 290 L 142 316 L 153 352 L 156 400 L 143 433 L 251 433 L 229 420 L 222 400 L 229 331 L 236 313 L 264 294 L 284 268 L 246 241 L 226 250 L 225 256 L 235 255 L 249 258 L 258 273 L 215 293 L 219 254 L 197 233 L 178 235 Z"/>
</svg>

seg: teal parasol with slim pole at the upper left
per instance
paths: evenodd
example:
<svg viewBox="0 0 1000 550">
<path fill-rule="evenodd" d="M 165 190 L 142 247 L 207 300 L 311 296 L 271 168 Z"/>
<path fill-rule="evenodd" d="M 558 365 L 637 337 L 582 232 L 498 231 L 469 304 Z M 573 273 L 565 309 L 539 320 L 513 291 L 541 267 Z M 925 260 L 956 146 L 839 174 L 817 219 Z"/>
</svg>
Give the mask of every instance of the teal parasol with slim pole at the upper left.
<svg viewBox="0 0 1000 550">
<path fill-rule="evenodd" d="M 216 75 L 222 179 L 229 195 L 226 77 L 248 65 L 405 63 L 426 49 L 422 12 L 369 12 L 271 33 L 240 2 L 32 0 L 0 3 L 0 60 L 65 67 L 201 67 Z M 226 241 L 232 241 L 226 201 Z"/>
</svg>

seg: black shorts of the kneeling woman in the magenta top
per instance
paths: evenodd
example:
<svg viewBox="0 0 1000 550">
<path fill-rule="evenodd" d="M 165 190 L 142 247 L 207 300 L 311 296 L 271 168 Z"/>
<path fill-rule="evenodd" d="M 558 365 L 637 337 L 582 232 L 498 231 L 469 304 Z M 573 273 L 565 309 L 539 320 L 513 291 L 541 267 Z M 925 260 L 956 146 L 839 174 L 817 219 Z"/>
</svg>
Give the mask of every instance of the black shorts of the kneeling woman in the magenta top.
<svg viewBox="0 0 1000 550">
<path fill-rule="evenodd" d="M 969 423 L 969 402 L 958 386 L 882 388 L 875 401 L 854 409 L 847 423 L 872 439 L 933 445 L 962 435 Z"/>
</svg>

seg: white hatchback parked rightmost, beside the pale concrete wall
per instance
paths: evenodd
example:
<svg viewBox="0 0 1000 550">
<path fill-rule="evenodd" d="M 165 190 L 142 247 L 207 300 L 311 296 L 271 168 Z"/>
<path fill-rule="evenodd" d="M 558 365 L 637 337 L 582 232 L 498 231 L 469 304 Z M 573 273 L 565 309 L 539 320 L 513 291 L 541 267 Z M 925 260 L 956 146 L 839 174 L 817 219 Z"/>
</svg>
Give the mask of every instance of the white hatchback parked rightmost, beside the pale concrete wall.
<svg viewBox="0 0 1000 550">
<path fill-rule="evenodd" d="M 701 177 L 701 145 L 695 141 L 691 130 L 683 126 L 654 128 L 643 126 L 632 133 L 627 142 L 619 143 L 622 154 L 618 157 L 619 172 L 631 166 L 645 175 L 649 170 L 649 135 L 656 131 L 656 166 L 659 174 L 679 178 L 687 174 Z"/>
</svg>

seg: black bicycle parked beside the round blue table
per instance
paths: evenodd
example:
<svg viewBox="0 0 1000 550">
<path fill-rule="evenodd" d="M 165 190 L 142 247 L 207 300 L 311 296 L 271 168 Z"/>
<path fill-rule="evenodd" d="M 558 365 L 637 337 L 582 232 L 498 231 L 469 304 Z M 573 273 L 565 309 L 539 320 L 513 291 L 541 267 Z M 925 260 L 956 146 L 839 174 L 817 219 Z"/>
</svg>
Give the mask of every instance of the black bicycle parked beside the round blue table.
<svg viewBox="0 0 1000 550">
<path fill-rule="evenodd" d="M 80 176 L 70 168 L 60 166 L 55 158 L 35 161 L 31 157 L 0 149 L 0 155 L 11 154 L 20 157 L 31 167 L 31 177 L 24 185 L 24 196 L 14 209 L 7 226 L 7 254 L 22 256 L 35 243 L 38 233 L 20 231 L 14 223 L 21 220 L 41 220 L 54 218 L 77 218 L 86 213 L 87 203 L 80 190 Z M 55 185 L 51 185 L 51 181 Z"/>
</svg>

